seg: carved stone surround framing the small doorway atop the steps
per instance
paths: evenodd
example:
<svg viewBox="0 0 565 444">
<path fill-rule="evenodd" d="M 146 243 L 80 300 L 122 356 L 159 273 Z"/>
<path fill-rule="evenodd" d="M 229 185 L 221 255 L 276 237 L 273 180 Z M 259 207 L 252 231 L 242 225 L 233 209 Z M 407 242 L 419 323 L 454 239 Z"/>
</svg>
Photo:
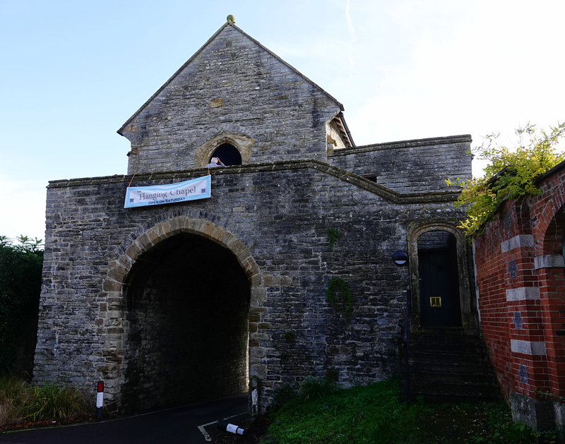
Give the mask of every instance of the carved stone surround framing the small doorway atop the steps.
<svg viewBox="0 0 565 444">
<path fill-rule="evenodd" d="M 420 306 L 422 277 L 420 276 L 420 258 L 422 249 L 426 249 L 423 244 L 435 244 L 437 240 L 453 244 L 449 248 L 453 252 L 453 269 L 450 271 L 455 274 L 453 284 L 456 286 L 454 293 L 458 294 L 459 300 L 455 301 L 454 309 L 460 311 L 460 318 L 456 316 L 456 323 L 451 327 L 460 328 L 468 334 L 475 334 L 477 330 L 477 316 L 471 308 L 471 292 L 468 272 L 468 243 L 464 234 L 453 224 L 445 222 L 434 222 L 431 224 L 409 224 L 408 232 L 408 256 L 410 265 L 410 290 L 412 297 L 412 317 L 410 327 L 412 331 L 424 332 L 429 325 L 426 325 L 425 313 Z M 437 239 L 436 239 L 437 238 Z M 420 254 L 419 254 L 420 241 Z M 433 247 L 430 246 L 429 249 Z M 441 247 L 440 247 L 441 248 Z M 447 245 L 446 245 L 447 248 Z"/>
</svg>

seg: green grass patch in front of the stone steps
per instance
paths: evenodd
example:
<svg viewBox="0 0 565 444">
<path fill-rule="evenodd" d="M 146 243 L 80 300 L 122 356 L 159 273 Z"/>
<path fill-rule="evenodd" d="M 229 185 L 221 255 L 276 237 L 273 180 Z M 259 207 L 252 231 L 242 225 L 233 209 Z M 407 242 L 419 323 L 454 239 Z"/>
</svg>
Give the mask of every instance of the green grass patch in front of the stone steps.
<svg viewBox="0 0 565 444">
<path fill-rule="evenodd" d="M 303 385 L 270 419 L 270 438 L 263 444 L 528 444 L 540 437 L 541 442 L 557 442 L 552 433 L 542 435 L 514 424 L 504 404 L 408 405 L 400 399 L 397 380 L 306 400 Z"/>
</svg>

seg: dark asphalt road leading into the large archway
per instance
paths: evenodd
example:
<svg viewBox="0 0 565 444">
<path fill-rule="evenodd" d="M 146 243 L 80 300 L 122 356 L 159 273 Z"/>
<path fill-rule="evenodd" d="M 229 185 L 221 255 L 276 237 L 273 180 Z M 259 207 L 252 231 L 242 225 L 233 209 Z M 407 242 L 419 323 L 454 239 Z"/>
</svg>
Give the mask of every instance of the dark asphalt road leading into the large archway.
<svg viewBox="0 0 565 444">
<path fill-rule="evenodd" d="M 217 420 L 238 424 L 248 416 L 247 395 L 241 395 L 94 424 L 4 432 L 0 433 L 0 443 L 210 443 L 218 434 Z"/>
</svg>

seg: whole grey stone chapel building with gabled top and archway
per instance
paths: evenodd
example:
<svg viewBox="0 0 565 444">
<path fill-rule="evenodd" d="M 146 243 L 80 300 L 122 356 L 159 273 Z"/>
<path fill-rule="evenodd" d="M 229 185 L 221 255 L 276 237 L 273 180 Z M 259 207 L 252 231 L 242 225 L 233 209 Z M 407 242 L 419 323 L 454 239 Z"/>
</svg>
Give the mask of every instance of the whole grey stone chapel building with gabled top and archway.
<svg viewBox="0 0 565 444">
<path fill-rule="evenodd" d="M 356 146 L 343 111 L 222 25 L 119 128 L 127 174 L 49 182 L 35 380 L 104 380 L 109 409 L 139 411 L 252 378 L 263 408 L 307 376 L 402 374 L 407 298 L 413 337 L 477 339 L 444 181 L 471 176 L 470 136 Z M 210 198 L 124 208 L 208 175 Z"/>
</svg>

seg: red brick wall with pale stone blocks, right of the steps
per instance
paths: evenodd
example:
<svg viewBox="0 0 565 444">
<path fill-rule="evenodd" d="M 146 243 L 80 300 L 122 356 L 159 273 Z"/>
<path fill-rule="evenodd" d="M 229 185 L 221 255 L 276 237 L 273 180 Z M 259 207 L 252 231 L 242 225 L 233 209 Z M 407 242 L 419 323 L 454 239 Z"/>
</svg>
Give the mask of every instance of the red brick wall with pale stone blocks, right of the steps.
<svg viewBox="0 0 565 444">
<path fill-rule="evenodd" d="M 560 166 L 539 196 L 501 205 L 475 240 L 481 329 L 506 399 L 565 395 L 564 179 Z"/>
</svg>

